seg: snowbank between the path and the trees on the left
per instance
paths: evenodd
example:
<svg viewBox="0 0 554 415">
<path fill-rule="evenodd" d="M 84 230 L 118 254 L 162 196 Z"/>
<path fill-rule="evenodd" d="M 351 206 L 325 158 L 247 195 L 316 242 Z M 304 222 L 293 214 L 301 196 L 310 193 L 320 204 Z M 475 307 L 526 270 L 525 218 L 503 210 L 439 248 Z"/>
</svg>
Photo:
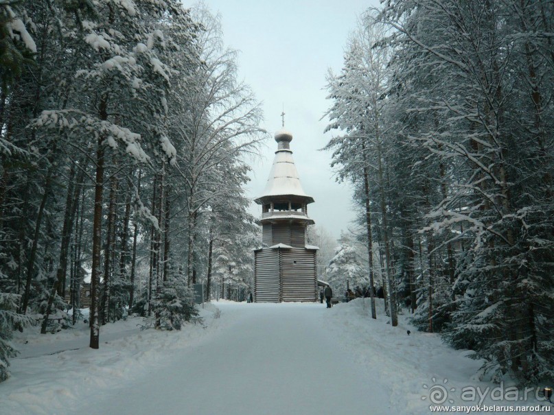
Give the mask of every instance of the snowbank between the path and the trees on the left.
<svg viewBox="0 0 554 415">
<path fill-rule="evenodd" d="M 5 415 L 71 414 L 114 386 L 133 379 L 218 330 L 216 307 L 200 308 L 203 324 L 187 324 L 182 331 L 141 331 L 143 318 L 127 318 L 100 328 L 100 349 L 89 348 L 88 324 L 41 335 L 40 327 L 17 333 L 20 354 L 12 359 L 12 376 L 0 383 L 0 413 Z"/>
</svg>

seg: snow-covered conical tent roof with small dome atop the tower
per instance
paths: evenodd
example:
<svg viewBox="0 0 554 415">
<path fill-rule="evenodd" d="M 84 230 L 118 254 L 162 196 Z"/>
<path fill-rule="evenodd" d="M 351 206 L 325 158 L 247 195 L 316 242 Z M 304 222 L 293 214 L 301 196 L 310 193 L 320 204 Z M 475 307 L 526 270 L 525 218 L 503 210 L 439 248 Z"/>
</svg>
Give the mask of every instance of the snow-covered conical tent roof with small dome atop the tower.
<svg viewBox="0 0 554 415">
<path fill-rule="evenodd" d="M 279 150 L 275 152 L 266 187 L 260 198 L 278 195 L 297 195 L 310 198 L 301 185 L 295 161 L 292 159 L 292 151 L 281 145 L 282 142 L 290 140 L 292 140 L 292 134 L 288 131 L 280 130 L 275 133 L 275 141 L 279 143 Z"/>
</svg>

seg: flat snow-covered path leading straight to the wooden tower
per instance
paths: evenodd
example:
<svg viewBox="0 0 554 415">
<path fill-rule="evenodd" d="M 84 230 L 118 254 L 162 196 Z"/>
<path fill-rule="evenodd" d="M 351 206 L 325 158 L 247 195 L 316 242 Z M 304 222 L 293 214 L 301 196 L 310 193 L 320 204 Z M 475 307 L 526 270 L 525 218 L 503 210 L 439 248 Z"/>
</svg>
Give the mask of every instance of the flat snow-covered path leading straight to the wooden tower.
<svg viewBox="0 0 554 415">
<path fill-rule="evenodd" d="M 319 304 L 218 305 L 208 342 L 102 392 L 87 414 L 390 414 L 389 392 L 324 327 Z M 227 318 L 226 318 L 227 320 Z M 90 396 L 90 398 L 93 398 Z M 97 402 L 91 407 L 91 402 Z"/>
</svg>

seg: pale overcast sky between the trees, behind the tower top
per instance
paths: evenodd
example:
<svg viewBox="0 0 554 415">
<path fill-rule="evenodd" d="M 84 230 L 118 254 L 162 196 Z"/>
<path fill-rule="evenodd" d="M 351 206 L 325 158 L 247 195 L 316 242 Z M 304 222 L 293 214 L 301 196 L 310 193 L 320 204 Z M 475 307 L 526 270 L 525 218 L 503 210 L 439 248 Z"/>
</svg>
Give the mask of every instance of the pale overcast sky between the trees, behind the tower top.
<svg viewBox="0 0 554 415">
<path fill-rule="evenodd" d="M 185 5 L 192 1 L 184 0 Z M 338 184 L 330 167 L 331 154 L 319 151 L 332 137 L 323 134 L 327 121 L 320 121 L 331 102 L 325 99 L 325 75 L 343 66 L 343 52 L 358 16 L 378 0 L 205 0 L 213 13 L 220 13 L 224 43 L 238 49 L 240 78 L 262 102 L 262 128 L 271 137 L 281 128 L 292 132 L 290 148 L 306 193 L 315 202 L 308 209 L 316 225 L 335 237 L 354 218 L 351 189 Z M 253 163 L 248 195 L 262 194 L 277 143 L 270 139 L 263 158 Z M 253 204 L 252 213 L 261 215 Z"/>
</svg>

